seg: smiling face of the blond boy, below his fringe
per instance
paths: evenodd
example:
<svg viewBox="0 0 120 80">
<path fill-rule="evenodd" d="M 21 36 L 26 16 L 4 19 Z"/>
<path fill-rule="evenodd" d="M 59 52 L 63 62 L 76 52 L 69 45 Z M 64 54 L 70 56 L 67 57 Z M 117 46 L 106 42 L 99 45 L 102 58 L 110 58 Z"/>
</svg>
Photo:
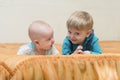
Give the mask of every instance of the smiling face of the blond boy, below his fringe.
<svg viewBox="0 0 120 80">
<path fill-rule="evenodd" d="M 90 31 L 88 30 L 68 29 L 68 38 L 73 44 L 83 44 L 85 38 L 88 37 L 89 34 Z"/>
</svg>

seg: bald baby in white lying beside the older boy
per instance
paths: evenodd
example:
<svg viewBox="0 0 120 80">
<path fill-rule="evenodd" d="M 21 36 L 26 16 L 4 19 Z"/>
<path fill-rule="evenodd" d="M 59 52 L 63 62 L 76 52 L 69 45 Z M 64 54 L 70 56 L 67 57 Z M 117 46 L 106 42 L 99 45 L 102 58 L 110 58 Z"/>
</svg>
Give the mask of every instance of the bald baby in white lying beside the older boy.
<svg viewBox="0 0 120 80">
<path fill-rule="evenodd" d="M 59 54 L 54 47 L 54 33 L 51 26 L 44 21 L 34 21 L 28 30 L 31 42 L 23 45 L 17 54 L 51 55 Z"/>
</svg>

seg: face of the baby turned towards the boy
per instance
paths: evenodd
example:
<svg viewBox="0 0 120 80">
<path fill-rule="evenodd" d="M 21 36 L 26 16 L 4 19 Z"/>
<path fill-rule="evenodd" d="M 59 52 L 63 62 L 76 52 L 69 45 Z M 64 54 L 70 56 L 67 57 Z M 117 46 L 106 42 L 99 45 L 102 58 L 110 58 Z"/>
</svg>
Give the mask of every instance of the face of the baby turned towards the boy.
<svg viewBox="0 0 120 80">
<path fill-rule="evenodd" d="M 47 33 L 44 33 L 41 36 L 41 39 L 39 39 L 39 43 L 40 43 L 40 49 L 43 50 L 49 50 L 52 48 L 52 45 L 54 44 L 54 35 L 53 35 L 53 31 L 49 31 Z"/>
</svg>

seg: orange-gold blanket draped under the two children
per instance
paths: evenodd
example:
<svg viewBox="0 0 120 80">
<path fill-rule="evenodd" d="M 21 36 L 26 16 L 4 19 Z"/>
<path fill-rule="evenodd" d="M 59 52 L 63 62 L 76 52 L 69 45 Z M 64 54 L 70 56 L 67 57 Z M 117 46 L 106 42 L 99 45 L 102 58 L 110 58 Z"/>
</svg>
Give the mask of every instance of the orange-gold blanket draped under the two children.
<svg viewBox="0 0 120 80">
<path fill-rule="evenodd" d="M 23 44 L 0 43 L 0 80 L 120 80 L 120 41 L 101 41 L 102 55 L 73 56 L 16 55 Z"/>
</svg>

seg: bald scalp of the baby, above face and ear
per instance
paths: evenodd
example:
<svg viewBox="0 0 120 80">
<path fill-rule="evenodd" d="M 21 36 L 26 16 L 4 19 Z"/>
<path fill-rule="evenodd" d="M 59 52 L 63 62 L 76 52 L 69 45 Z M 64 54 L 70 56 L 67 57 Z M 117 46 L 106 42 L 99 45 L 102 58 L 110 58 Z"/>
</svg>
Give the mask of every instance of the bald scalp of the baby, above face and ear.
<svg viewBox="0 0 120 80">
<path fill-rule="evenodd" d="M 44 36 L 44 34 L 49 34 L 50 32 L 53 32 L 51 26 L 44 21 L 37 20 L 34 21 L 30 26 L 29 26 L 29 37 L 30 39 L 36 40 Z"/>
</svg>

